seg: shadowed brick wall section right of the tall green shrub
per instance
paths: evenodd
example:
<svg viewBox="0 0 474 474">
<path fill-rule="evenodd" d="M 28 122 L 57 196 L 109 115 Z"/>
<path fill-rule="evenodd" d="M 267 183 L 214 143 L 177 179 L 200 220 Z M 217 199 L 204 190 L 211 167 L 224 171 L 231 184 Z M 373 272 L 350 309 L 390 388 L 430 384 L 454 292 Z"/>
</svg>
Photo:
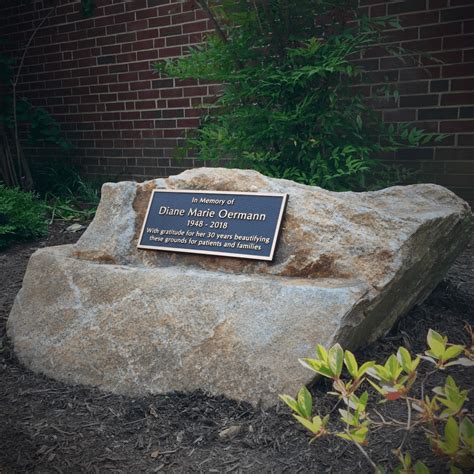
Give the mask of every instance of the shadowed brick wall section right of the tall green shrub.
<svg viewBox="0 0 474 474">
<path fill-rule="evenodd" d="M 370 16 L 396 15 L 403 30 L 387 32 L 387 44 L 412 51 L 401 61 L 382 48 L 360 59 L 376 95 L 383 84 L 397 101 L 375 100 L 386 122 L 412 122 L 448 137 L 436 147 L 401 150 L 389 160 L 418 169 L 422 179 L 453 189 L 474 202 L 474 0 L 360 0 Z"/>
</svg>

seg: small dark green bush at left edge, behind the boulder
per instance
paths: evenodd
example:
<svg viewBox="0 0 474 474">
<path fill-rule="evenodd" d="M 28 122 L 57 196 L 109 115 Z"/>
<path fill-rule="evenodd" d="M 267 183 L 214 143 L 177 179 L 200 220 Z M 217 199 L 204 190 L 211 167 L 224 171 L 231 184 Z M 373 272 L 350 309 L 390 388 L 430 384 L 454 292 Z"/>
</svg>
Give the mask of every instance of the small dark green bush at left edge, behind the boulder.
<svg viewBox="0 0 474 474">
<path fill-rule="evenodd" d="M 0 184 L 0 249 L 16 240 L 45 235 L 46 207 L 32 193 Z"/>
</svg>

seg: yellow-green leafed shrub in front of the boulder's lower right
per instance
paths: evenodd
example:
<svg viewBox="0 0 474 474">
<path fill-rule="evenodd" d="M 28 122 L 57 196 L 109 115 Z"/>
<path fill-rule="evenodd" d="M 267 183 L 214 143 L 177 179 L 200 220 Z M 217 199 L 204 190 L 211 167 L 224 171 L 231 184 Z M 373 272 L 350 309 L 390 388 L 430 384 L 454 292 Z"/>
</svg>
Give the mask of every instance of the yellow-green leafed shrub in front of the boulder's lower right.
<svg viewBox="0 0 474 474">
<path fill-rule="evenodd" d="M 280 398 L 293 410 L 295 419 L 310 431 L 312 439 L 325 436 L 337 436 L 357 446 L 374 472 L 385 472 L 368 456 L 364 446 L 368 444 L 371 428 L 386 427 L 392 430 L 405 429 L 403 440 L 395 451 L 400 465 L 397 473 L 426 474 L 428 468 L 422 461 L 413 463 L 410 453 L 403 452 L 407 436 L 416 426 L 420 426 L 428 439 L 434 454 L 443 457 L 452 474 L 462 473 L 460 468 L 474 467 L 474 424 L 472 415 L 467 413 L 465 404 L 468 401 L 468 390 L 458 387 L 453 377 L 448 375 L 443 386 L 433 389 L 434 396 L 424 394 L 424 383 L 437 370 L 445 370 L 454 365 L 474 366 L 474 338 L 470 326 L 473 347 L 466 348 L 459 344 L 449 344 L 447 337 L 429 330 L 427 335 L 428 350 L 416 357 L 405 347 L 400 347 L 396 354 L 390 355 L 383 365 L 367 361 L 359 365 L 355 356 L 344 351 L 339 344 L 329 350 L 318 345 L 316 357 L 302 359 L 301 364 L 313 372 L 332 380 L 335 395 L 344 404 L 339 409 L 343 429 L 330 427 L 330 415 L 313 416 L 313 400 L 309 390 L 303 387 L 297 399 L 288 395 Z M 460 357 L 462 356 L 462 357 Z M 421 395 L 411 395 L 413 384 L 418 376 L 420 362 L 426 360 L 434 370 L 425 375 Z M 343 368 L 347 374 L 344 378 Z M 360 387 L 368 382 L 381 396 L 381 402 L 403 401 L 407 407 L 406 422 L 390 418 L 386 421 L 377 413 L 379 419 L 369 413 L 369 393 L 360 393 Z M 415 418 L 412 410 L 418 413 Z M 376 411 L 376 410 L 375 410 Z"/>
</svg>

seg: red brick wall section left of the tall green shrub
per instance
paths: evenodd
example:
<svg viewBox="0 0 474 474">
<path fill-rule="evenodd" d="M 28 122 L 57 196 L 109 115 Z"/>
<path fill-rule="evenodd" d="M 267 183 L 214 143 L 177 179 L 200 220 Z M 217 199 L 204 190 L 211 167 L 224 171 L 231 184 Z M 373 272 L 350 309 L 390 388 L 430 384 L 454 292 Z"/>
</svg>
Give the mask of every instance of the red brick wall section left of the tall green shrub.
<svg viewBox="0 0 474 474">
<path fill-rule="evenodd" d="M 18 3 L 2 0 L 0 10 L 0 37 L 11 40 L 16 55 L 14 47 L 23 47 L 52 4 L 25 11 Z M 160 78 L 151 65 L 201 42 L 204 13 L 187 1 L 96 0 L 93 17 L 84 19 L 79 0 L 59 5 L 28 51 L 19 95 L 62 124 L 90 175 L 143 179 L 193 167 L 193 159 L 174 160 L 173 150 L 183 130 L 198 125 L 196 106 L 218 88 Z"/>
</svg>

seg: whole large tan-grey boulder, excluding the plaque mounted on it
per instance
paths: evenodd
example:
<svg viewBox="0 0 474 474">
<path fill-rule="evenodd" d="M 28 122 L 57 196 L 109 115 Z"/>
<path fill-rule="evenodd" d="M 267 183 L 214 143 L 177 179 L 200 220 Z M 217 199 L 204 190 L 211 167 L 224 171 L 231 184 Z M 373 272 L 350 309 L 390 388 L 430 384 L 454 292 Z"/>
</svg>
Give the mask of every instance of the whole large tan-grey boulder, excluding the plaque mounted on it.
<svg viewBox="0 0 474 474">
<path fill-rule="evenodd" d="M 137 249 L 153 189 L 288 193 L 274 261 Z M 432 184 L 333 193 L 219 168 L 105 184 L 77 244 L 31 257 L 9 335 L 27 366 L 70 383 L 270 405 L 310 382 L 298 358 L 316 343 L 385 334 L 472 228 L 469 206 Z"/>
</svg>

